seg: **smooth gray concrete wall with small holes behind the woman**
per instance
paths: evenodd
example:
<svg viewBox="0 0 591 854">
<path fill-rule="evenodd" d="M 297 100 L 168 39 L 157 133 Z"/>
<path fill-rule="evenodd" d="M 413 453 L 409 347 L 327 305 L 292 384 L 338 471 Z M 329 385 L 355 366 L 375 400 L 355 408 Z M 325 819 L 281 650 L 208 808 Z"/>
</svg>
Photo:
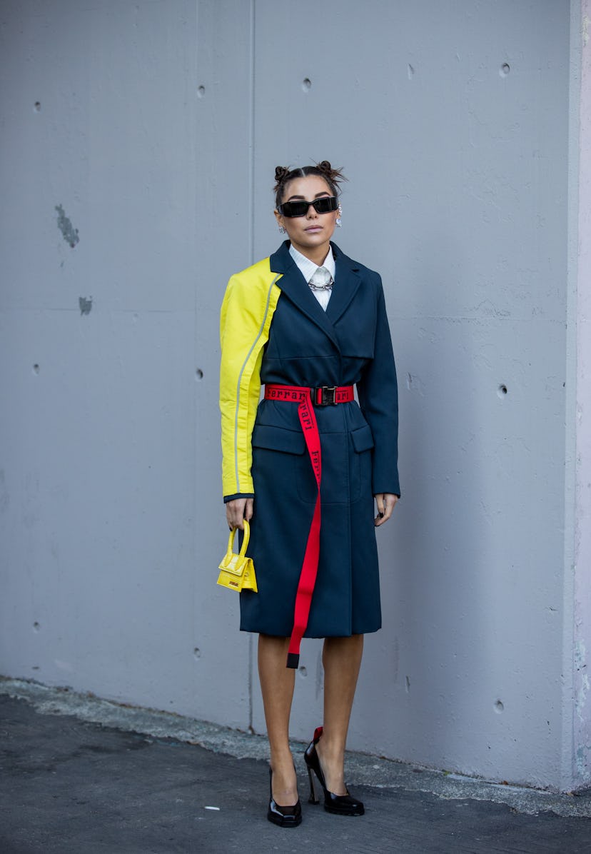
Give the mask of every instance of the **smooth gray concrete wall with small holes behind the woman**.
<svg viewBox="0 0 591 854">
<path fill-rule="evenodd" d="M 588 783 L 579 3 L 0 8 L 0 672 L 264 729 L 255 644 L 214 583 L 219 303 L 279 243 L 274 167 L 329 158 L 401 380 L 403 497 L 350 746 Z M 302 652 L 305 739 L 319 643 Z"/>
</svg>

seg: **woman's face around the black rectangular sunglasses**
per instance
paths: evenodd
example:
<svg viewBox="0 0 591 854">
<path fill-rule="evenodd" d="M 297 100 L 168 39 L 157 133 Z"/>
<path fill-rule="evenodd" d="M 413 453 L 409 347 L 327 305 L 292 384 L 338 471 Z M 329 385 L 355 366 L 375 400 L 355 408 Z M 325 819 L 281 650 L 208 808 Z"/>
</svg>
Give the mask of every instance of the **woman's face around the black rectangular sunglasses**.
<svg viewBox="0 0 591 854">
<path fill-rule="evenodd" d="M 307 175 L 306 178 L 293 178 L 284 190 L 282 202 L 306 201 L 313 202 L 321 196 L 333 196 L 331 188 L 324 178 L 319 175 Z M 312 205 L 304 216 L 287 217 L 277 210 L 275 218 L 283 225 L 290 238 L 291 245 L 302 255 L 321 254 L 325 246 L 328 253 L 329 243 L 335 231 L 336 218 L 339 212 L 317 213 Z"/>
</svg>

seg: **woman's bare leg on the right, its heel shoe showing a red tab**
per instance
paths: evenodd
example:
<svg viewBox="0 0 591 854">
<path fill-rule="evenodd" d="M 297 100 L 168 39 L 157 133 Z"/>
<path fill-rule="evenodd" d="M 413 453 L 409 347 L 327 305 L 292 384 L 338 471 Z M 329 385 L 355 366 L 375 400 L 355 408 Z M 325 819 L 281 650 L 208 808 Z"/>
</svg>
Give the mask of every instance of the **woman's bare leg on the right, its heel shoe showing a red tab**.
<svg viewBox="0 0 591 854">
<path fill-rule="evenodd" d="M 357 687 L 363 635 L 326 638 L 322 653 L 325 668 L 325 720 L 322 738 L 316 745 L 326 787 L 336 795 L 347 793 L 344 777 L 348 722 Z"/>
</svg>

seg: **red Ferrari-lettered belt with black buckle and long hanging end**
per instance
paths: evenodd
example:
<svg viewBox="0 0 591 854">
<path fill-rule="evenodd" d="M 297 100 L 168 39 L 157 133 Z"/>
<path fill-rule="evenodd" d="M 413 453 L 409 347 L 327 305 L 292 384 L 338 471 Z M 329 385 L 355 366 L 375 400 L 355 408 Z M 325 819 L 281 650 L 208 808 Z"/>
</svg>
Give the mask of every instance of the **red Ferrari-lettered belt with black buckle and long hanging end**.
<svg viewBox="0 0 591 854">
<path fill-rule="evenodd" d="M 266 401 L 284 401 L 298 403 L 297 414 L 300 417 L 301 430 L 306 440 L 307 453 L 310 456 L 314 477 L 316 477 L 316 504 L 312 524 L 307 535 L 306 553 L 301 564 L 300 581 L 297 585 L 296 608 L 294 610 L 294 627 L 291 630 L 290 648 L 287 654 L 287 666 L 296 669 L 300 663 L 300 644 L 307 627 L 307 618 L 312 605 L 312 595 L 318 573 L 320 552 L 320 481 L 322 479 L 322 455 L 320 453 L 320 436 L 314 406 L 328 407 L 337 403 L 347 403 L 354 400 L 352 385 L 321 386 L 319 389 L 309 389 L 301 385 L 265 386 Z"/>
</svg>

